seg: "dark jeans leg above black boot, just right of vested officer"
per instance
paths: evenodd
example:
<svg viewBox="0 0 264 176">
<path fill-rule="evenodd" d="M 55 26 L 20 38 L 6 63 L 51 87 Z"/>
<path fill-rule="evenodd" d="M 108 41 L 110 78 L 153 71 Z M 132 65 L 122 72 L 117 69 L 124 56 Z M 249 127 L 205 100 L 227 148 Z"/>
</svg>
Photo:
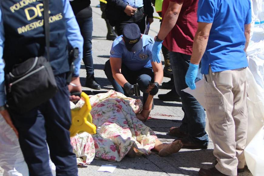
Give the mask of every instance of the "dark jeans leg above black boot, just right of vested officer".
<svg viewBox="0 0 264 176">
<path fill-rule="evenodd" d="M 76 18 L 83 36 L 83 63 L 86 69 L 86 75 L 93 75 L 93 56 L 92 56 L 92 33 L 93 17 Z"/>
</svg>

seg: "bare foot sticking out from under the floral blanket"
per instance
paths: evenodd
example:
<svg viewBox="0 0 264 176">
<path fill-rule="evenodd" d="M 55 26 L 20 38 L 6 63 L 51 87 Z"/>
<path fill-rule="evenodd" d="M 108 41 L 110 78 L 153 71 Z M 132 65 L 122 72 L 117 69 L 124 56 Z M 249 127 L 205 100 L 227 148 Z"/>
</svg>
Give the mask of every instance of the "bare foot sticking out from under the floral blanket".
<svg viewBox="0 0 264 176">
<path fill-rule="evenodd" d="M 181 147 L 183 147 L 181 140 L 176 140 L 171 144 L 165 144 L 164 147 L 160 150 L 159 156 L 165 157 L 170 154 L 177 153 L 181 149 Z"/>
</svg>

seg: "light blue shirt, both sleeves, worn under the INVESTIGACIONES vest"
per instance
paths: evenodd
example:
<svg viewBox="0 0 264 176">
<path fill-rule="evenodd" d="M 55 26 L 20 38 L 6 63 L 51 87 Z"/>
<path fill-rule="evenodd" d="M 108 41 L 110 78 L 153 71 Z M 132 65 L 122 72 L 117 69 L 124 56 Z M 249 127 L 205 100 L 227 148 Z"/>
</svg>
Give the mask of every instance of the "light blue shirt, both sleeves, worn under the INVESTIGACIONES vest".
<svg viewBox="0 0 264 176">
<path fill-rule="evenodd" d="M 69 0 L 62 0 L 64 6 L 64 17 L 66 21 L 66 36 L 69 43 L 74 48 L 79 48 L 79 58 L 74 61 L 75 69 L 73 76 L 79 76 L 81 59 L 83 58 L 83 37 L 81 36 L 79 25 L 73 14 L 72 7 L 70 6 Z M 5 105 L 5 73 L 4 73 L 4 61 L 3 61 L 3 49 L 5 41 L 5 31 L 2 19 L 2 12 L 0 9 L 0 106 Z"/>
</svg>

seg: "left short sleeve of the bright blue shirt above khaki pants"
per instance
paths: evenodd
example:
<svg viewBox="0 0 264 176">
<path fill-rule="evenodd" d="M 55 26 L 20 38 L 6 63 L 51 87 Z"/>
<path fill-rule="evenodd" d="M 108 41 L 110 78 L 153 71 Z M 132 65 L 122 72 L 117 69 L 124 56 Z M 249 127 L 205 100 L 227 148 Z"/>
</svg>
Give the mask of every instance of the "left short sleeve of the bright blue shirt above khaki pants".
<svg viewBox="0 0 264 176">
<path fill-rule="evenodd" d="M 205 10 L 206 9 L 206 10 Z M 216 13 L 214 0 L 199 0 L 197 10 L 197 21 L 212 23 Z"/>
</svg>

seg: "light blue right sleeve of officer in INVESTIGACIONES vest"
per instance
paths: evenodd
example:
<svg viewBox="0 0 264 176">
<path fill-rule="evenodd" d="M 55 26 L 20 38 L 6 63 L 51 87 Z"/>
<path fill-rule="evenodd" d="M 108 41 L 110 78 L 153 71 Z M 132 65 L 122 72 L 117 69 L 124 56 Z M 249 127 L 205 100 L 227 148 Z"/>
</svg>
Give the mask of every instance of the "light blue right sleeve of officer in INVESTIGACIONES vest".
<svg viewBox="0 0 264 176">
<path fill-rule="evenodd" d="M 70 6 L 69 0 L 62 0 L 64 5 L 64 17 L 66 20 L 66 36 L 69 43 L 73 48 L 79 49 L 79 57 L 74 60 L 74 73 L 73 77 L 78 77 L 81 67 L 81 59 L 83 58 L 83 37 L 80 32 L 79 25 L 73 14 L 72 7 Z"/>
</svg>

